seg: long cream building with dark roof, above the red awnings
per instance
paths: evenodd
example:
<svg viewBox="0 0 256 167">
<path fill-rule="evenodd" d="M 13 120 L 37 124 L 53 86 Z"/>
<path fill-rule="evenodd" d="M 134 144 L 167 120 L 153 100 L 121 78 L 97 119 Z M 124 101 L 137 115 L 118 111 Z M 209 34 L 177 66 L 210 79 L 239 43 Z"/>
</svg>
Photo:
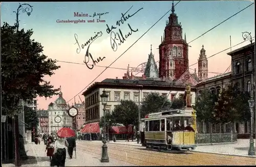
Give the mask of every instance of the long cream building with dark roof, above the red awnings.
<svg viewBox="0 0 256 167">
<path fill-rule="evenodd" d="M 170 84 L 162 80 L 127 80 L 118 78 L 95 82 L 83 92 L 86 99 L 86 124 L 99 122 L 101 116 L 103 116 L 103 106 L 100 99 L 103 90 L 109 95 L 108 104 L 105 106 L 106 112 L 112 112 L 121 100 L 133 100 L 139 105 L 151 92 L 167 96 L 169 100 L 175 97 L 183 97 L 185 86 L 183 82 Z M 191 87 L 191 104 L 195 104 L 195 97 L 196 88 Z"/>
</svg>

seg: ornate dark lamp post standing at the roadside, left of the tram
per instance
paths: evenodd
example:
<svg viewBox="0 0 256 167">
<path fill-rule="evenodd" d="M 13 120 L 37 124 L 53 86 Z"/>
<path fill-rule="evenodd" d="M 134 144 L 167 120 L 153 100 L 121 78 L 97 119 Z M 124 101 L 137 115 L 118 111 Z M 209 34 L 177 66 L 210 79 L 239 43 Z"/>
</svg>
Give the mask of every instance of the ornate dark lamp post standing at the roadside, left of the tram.
<svg viewBox="0 0 256 167">
<path fill-rule="evenodd" d="M 106 117 L 105 117 L 105 112 L 106 112 L 106 108 L 105 105 L 107 103 L 108 100 L 108 96 L 105 92 L 105 90 L 103 90 L 103 93 L 100 95 L 101 98 L 101 104 L 104 106 L 103 108 L 103 117 L 104 117 L 104 123 L 103 123 L 103 145 L 102 145 L 102 155 L 101 155 L 101 162 L 109 162 L 109 155 L 108 155 L 108 146 L 106 146 Z"/>
</svg>

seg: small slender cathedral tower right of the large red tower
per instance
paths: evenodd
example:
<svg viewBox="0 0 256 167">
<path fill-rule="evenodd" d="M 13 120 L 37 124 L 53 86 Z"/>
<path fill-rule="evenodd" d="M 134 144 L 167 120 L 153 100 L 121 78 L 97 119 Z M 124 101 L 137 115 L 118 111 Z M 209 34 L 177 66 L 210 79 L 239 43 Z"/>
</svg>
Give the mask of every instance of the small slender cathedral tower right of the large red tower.
<svg viewBox="0 0 256 167">
<path fill-rule="evenodd" d="M 204 45 L 200 51 L 198 59 L 198 78 L 199 80 L 204 80 L 208 78 L 208 60 L 205 55 Z"/>
</svg>

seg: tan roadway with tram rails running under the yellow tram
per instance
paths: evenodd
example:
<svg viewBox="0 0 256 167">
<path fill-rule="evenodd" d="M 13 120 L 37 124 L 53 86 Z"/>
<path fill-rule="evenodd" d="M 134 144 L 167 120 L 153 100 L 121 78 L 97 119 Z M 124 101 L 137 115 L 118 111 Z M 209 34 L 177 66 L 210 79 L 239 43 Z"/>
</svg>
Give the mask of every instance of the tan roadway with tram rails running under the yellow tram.
<svg viewBox="0 0 256 167">
<path fill-rule="evenodd" d="M 119 144 L 116 144 L 119 143 Z M 108 155 L 110 158 L 129 162 L 134 165 L 255 165 L 255 157 L 243 157 L 232 155 L 220 155 L 190 151 L 156 151 L 136 146 L 134 142 L 126 142 L 134 145 L 120 145 L 121 142 L 108 143 Z M 137 144 L 138 145 L 138 144 Z M 78 141 L 77 148 L 101 154 L 102 143 L 100 141 Z"/>
</svg>

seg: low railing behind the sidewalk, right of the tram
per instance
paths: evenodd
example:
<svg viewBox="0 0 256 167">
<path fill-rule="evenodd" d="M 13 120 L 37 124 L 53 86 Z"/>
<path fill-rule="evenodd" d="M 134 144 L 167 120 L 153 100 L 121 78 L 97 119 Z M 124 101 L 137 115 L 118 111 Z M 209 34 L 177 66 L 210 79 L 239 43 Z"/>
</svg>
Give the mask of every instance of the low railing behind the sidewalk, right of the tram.
<svg viewBox="0 0 256 167">
<path fill-rule="evenodd" d="M 208 144 L 208 143 L 232 143 L 237 142 L 237 133 L 197 133 L 196 143 L 197 144 Z"/>
</svg>

